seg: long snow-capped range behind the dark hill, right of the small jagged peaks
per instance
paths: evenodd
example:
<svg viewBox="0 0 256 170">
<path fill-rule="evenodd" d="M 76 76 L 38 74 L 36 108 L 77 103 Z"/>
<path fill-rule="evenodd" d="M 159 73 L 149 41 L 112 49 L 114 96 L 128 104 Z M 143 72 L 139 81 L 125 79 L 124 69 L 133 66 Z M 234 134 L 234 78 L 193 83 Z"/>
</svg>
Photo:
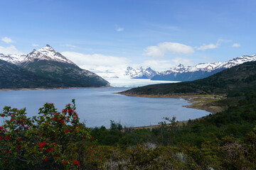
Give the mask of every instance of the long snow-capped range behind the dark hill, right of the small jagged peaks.
<svg viewBox="0 0 256 170">
<path fill-rule="evenodd" d="M 152 77 L 151 80 L 169 80 L 169 81 L 192 81 L 196 79 L 203 79 L 212 74 L 228 69 L 244 62 L 256 61 L 256 55 L 243 55 L 242 57 L 234 58 L 228 62 L 213 62 L 200 63 L 196 66 L 185 67 L 179 64 L 174 69 L 169 69 Z"/>
</svg>

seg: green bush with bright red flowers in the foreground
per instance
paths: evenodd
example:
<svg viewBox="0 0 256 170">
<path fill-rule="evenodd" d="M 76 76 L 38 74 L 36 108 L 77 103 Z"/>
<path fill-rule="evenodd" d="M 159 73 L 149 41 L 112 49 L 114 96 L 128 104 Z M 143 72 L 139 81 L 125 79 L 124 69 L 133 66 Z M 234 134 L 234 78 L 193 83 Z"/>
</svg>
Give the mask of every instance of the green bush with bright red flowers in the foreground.
<svg viewBox="0 0 256 170">
<path fill-rule="evenodd" d="M 26 116 L 25 108 L 8 106 L 0 115 L 1 169 L 82 169 L 85 157 L 77 154 L 79 147 L 88 153 L 93 148 L 90 129 L 79 122 L 74 99 L 61 112 L 46 103 L 33 118 Z"/>
</svg>

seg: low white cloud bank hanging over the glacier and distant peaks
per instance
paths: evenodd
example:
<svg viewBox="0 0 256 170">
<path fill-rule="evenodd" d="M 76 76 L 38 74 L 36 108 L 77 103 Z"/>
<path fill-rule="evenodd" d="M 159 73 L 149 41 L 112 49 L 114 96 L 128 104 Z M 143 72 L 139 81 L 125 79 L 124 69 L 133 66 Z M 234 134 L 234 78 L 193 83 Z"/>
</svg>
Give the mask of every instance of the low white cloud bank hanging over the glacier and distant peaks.
<svg viewBox="0 0 256 170">
<path fill-rule="evenodd" d="M 101 54 L 86 55 L 71 51 L 61 52 L 61 54 L 78 64 L 82 69 L 88 69 L 103 78 L 117 76 L 120 79 L 126 79 L 127 77 L 124 74 L 128 66 L 133 68 L 151 67 L 158 72 L 163 72 L 171 67 L 176 67 L 178 64 L 193 65 L 191 59 L 181 57 L 176 57 L 173 60 L 146 60 L 139 64 L 132 64 L 126 57 Z"/>
</svg>

